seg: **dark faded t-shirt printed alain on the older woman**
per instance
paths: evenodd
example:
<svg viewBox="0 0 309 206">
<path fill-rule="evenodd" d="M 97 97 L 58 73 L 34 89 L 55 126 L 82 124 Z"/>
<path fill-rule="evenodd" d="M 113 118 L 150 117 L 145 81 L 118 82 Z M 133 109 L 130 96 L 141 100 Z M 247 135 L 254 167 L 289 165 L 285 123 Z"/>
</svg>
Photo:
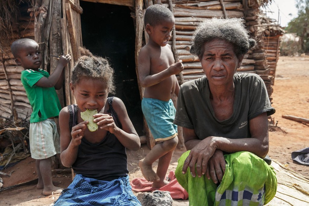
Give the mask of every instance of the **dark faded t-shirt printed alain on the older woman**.
<svg viewBox="0 0 309 206">
<path fill-rule="evenodd" d="M 219 121 L 210 102 L 208 80 L 204 76 L 181 85 L 174 124 L 194 129 L 199 139 L 221 136 L 231 139 L 251 138 L 249 120 L 267 112 L 271 106 L 263 79 L 256 74 L 235 74 L 234 111 L 230 118 Z"/>
</svg>

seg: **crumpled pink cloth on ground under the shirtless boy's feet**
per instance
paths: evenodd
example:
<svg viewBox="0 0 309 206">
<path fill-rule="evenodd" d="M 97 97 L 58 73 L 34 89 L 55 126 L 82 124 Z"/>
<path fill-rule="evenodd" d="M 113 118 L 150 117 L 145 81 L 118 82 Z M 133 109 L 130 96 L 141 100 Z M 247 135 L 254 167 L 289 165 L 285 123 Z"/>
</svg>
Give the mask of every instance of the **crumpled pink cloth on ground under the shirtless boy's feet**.
<svg viewBox="0 0 309 206">
<path fill-rule="evenodd" d="M 161 188 L 152 187 L 152 182 L 148 182 L 145 178 L 134 178 L 131 181 L 132 190 L 136 192 L 148 192 L 154 190 L 169 191 L 173 199 L 187 200 L 188 192 L 178 183 L 174 171 L 170 171 L 168 178 L 171 182 Z"/>
</svg>

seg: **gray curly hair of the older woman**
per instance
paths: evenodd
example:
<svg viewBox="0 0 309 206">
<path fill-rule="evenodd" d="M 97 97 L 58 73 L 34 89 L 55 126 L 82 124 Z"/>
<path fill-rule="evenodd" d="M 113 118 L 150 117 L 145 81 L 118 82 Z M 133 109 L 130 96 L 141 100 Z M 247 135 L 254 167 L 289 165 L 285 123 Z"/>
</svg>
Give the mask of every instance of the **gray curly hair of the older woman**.
<svg viewBox="0 0 309 206">
<path fill-rule="evenodd" d="M 248 33 L 241 18 L 206 19 L 193 33 L 190 53 L 201 57 L 206 42 L 222 39 L 233 45 L 237 57 L 243 56 L 256 45 L 256 41 Z"/>
</svg>

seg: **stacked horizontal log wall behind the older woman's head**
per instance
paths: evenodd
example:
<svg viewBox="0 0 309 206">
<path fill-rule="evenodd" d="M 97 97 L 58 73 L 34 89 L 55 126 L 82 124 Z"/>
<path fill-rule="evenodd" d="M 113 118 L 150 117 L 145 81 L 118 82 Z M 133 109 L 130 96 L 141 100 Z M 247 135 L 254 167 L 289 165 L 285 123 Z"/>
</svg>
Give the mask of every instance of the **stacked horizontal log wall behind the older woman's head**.
<svg viewBox="0 0 309 206">
<path fill-rule="evenodd" d="M 270 47 L 273 41 L 266 37 L 269 36 L 267 34 L 269 27 L 276 28 L 278 25 L 271 26 L 271 22 L 265 21 L 265 15 L 259 9 L 261 3 L 265 3 L 265 1 L 212 0 L 190 2 L 162 0 L 161 2 L 168 8 L 171 8 L 170 5 L 172 4 L 175 16 L 176 38 L 174 38 L 175 42 L 171 38 L 169 44 L 172 48 L 176 48 L 177 56 L 184 64 L 184 71 L 177 76 L 180 84 L 205 75 L 199 59 L 189 52 L 193 31 L 200 22 L 213 16 L 244 18 L 244 23 L 252 37 L 257 40 L 258 46 L 248 51 L 243 59 L 242 66 L 237 69 L 237 73 L 260 75 L 266 84 L 269 99 L 272 100 L 273 74 L 276 67 L 273 61 L 277 61 L 279 48 Z M 265 44 L 265 41 L 267 41 L 267 44 Z M 268 47 L 265 48 L 265 45 L 268 45 Z M 273 57 L 274 53 L 276 53 L 276 57 Z"/>
</svg>

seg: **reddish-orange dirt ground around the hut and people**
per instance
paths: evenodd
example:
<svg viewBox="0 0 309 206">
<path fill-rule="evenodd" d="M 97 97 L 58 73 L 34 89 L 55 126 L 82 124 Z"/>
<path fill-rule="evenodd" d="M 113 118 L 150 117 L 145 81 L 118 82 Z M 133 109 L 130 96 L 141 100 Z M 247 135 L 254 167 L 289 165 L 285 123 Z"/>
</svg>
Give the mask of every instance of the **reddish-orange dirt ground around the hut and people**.
<svg viewBox="0 0 309 206">
<path fill-rule="evenodd" d="M 301 165 L 291 160 L 291 152 L 309 147 L 309 124 L 282 118 L 282 115 L 293 115 L 309 118 L 309 56 L 280 57 L 276 78 L 273 85 L 273 107 L 276 113 L 272 115 L 277 127 L 269 132 L 269 156 L 281 164 L 306 177 L 309 177 L 309 166 Z M 175 170 L 177 159 L 185 150 L 176 149 L 169 171 Z M 149 149 L 145 144 L 137 151 L 127 151 L 130 180 L 142 177 L 138 160 L 146 156 Z M 156 170 L 156 164 L 154 166 Z M 168 172 L 169 172 L 168 171 Z M 52 205 L 56 196 L 43 196 L 42 190 L 36 189 L 35 161 L 28 157 L 18 164 L 2 171 L 11 173 L 10 177 L 1 175 L 5 187 L 18 183 L 29 182 L 0 192 L 0 205 Z M 168 174 L 168 173 L 167 173 Z M 61 181 L 60 187 L 66 188 L 72 181 L 70 170 L 53 171 L 53 179 Z M 135 193 L 142 200 L 143 193 Z M 188 200 L 175 200 L 174 206 L 188 206 Z"/>
</svg>

